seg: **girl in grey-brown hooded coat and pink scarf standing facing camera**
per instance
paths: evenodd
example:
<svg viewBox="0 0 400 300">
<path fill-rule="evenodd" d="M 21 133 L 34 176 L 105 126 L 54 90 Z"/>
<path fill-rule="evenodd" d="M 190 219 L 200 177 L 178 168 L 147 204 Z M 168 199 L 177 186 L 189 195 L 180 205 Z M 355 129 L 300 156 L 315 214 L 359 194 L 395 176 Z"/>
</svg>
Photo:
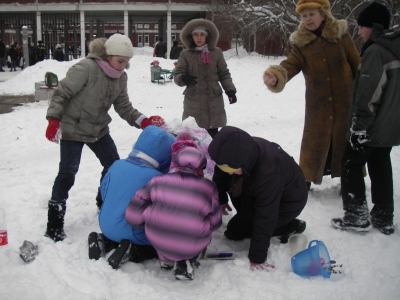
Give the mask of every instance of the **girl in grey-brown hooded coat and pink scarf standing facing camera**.
<svg viewBox="0 0 400 300">
<path fill-rule="evenodd" d="M 194 117 L 197 125 L 206 129 L 211 137 L 227 122 L 222 88 L 230 104 L 237 101 L 224 55 L 217 47 L 218 37 L 213 22 L 205 19 L 188 22 L 180 34 L 186 49 L 179 56 L 174 75 L 178 86 L 186 86 L 182 120 Z"/>
</svg>

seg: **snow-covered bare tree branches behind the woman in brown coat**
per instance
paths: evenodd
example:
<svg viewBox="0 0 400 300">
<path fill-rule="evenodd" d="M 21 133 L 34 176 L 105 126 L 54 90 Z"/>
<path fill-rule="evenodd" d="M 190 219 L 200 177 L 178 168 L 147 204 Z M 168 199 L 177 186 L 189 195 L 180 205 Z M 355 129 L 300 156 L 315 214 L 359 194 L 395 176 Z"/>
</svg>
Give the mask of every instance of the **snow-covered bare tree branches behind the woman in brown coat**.
<svg viewBox="0 0 400 300">
<path fill-rule="evenodd" d="M 250 45 L 253 37 L 253 48 L 257 49 L 256 38 L 264 44 L 279 41 L 280 54 L 289 50 L 289 36 L 300 23 L 296 13 L 298 0 L 213 0 L 209 7 L 213 19 L 222 35 L 241 39 L 244 45 Z M 349 32 L 355 41 L 358 40 L 357 17 L 371 0 L 331 0 L 332 15 L 336 19 L 347 20 Z M 381 0 L 392 15 L 391 27 L 400 22 L 400 0 Z M 247 43 L 248 42 L 248 43 Z M 250 52 L 250 46 L 247 47 Z M 260 48 L 258 48 L 260 49 Z"/>
</svg>

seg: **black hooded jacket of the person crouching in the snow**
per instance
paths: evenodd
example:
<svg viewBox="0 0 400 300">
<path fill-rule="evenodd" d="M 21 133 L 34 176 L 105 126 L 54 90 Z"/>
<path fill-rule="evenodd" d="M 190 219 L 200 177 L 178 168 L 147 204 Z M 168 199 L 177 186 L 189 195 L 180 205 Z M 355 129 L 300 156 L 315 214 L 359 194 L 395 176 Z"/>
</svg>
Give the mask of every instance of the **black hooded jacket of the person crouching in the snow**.
<svg viewBox="0 0 400 300">
<path fill-rule="evenodd" d="M 303 172 L 278 144 L 231 126 L 221 129 L 208 151 L 217 164 L 242 168 L 241 197 L 246 199 L 240 203 L 248 206 L 244 210 L 253 219 L 248 256 L 253 263 L 265 262 L 275 228 L 295 219 L 306 205 L 308 191 Z M 237 176 L 216 166 L 213 181 L 221 204 L 228 202 L 227 192 L 235 184 L 232 178 Z"/>
</svg>

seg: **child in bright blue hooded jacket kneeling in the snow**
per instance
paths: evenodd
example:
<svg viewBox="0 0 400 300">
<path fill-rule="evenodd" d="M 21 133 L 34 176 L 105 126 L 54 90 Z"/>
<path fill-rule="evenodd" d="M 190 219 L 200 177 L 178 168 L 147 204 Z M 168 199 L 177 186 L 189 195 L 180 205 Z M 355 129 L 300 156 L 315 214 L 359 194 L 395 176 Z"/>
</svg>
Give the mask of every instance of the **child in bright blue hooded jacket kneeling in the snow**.
<svg viewBox="0 0 400 300">
<path fill-rule="evenodd" d="M 110 244 L 118 245 L 108 258 L 114 269 L 128 260 L 139 263 L 157 257 L 144 229 L 133 228 L 127 223 L 125 210 L 139 188 L 154 176 L 168 172 L 174 142 L 172 134 L 157 126 L 148 126 L 139 135 L 128 157 L 112 164 L 100 186 L 104 200 L 99 213 L 102 233 L 89 235 L 90 259 L 98 260 L 104 256 L 110 250 L 106 245 Z"/>
</svg>

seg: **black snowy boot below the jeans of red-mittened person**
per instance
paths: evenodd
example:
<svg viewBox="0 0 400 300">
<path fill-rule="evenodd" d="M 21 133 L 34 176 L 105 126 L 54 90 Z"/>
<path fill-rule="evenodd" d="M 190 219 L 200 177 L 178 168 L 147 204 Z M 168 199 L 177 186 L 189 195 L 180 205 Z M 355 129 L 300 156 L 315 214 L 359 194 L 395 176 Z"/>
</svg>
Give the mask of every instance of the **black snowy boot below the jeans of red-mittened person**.
<svg viewBox="0 0 400 300">
<path fill-rule="evenodd" d="M 66 237 L 64 232 L 65 201 L 49 201 L 47 230 L 44 236 L 54 242 L 62 241 Z"/>
</svg>

